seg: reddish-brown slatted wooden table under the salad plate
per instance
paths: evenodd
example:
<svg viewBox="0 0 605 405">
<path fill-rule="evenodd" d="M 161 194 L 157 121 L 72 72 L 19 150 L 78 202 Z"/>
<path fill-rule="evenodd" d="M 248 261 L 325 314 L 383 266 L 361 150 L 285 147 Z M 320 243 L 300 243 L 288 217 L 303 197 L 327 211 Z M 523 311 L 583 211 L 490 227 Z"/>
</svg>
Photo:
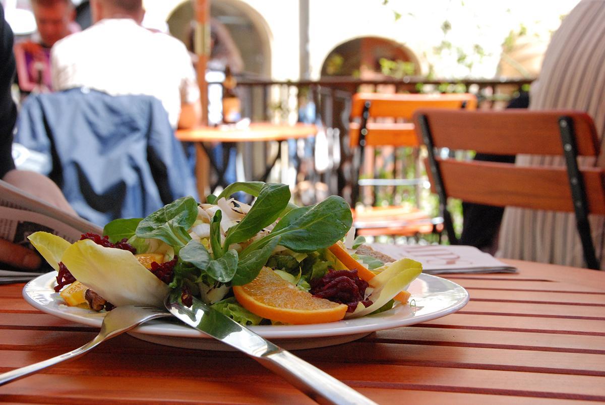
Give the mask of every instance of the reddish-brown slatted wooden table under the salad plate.
<svg viewBox="0 0 605 405">
<path fill-rule="evenodd" d="M 605 272 L 506 260 L 518 274 L 449 275 L 456 314 L 297 355 L 381 404 L 605 401 Z M 32 309 L 0 286 L 0 372 L 67 352 L 94 328 Z M 239 353 L 121 335 L 71 363 L 0 387 L 11 403 L 312 403 Z M 577 402 L 576 402 L 577 401 Z"/>
</svg>

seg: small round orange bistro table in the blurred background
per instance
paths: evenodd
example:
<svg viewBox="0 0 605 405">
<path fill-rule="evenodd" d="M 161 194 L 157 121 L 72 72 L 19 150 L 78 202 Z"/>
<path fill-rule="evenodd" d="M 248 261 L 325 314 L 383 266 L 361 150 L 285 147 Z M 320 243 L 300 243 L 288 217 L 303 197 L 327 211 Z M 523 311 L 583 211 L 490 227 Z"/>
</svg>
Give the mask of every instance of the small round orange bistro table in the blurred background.
<svg viewBox="0 0 605 405">
<path fill-rule="evenodd" d="M 218 127 L 196 127 L 191 130 L 178 130 L 176 136 L 181 142 L 195 142 L 196 145 L 203 148 L 206 156 L 208 156 L 212 169 L 217 173 L 217 181 L 211 186 L 212 191 L 218 185 L 223 186 L 223 188 L 228 185 L 224 179 L 227 162 L 224 162 L 223 165 L 218 165 L 212 156 L 212 153 L 210 153 L 207 143 L 223 142 L 227 143 L 228 146 L 233 146 L 239 142 L 281 142 L 289 139 L 312 137 L 315 136 L 316 133 L 317 127 L 312 124 L 296 123 L 295 125 L 286 125 L 269 122 L 253 122 L 243 128 L 239 128 L 236 125 L 219 125 Z M 275 158 L 266 163 L 264 173 L 259 180 L 265 181 L 277 160 L 282 157 L 283 153 L 280 147 L 278 148 Z M 198 170 L 198 182 L 199 176 L 201 175 L 204 175 L 204 173 L 200 173 Z M 203 195 L 204 192 L 201 190 L 200 196 Z"/>
</svg>

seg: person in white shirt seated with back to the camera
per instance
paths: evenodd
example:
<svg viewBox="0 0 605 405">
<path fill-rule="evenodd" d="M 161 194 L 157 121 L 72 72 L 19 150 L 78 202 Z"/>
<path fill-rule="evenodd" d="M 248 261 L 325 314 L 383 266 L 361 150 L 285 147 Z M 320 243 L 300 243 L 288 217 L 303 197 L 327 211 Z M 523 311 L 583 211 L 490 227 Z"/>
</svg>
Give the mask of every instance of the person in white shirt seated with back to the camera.
<svg viewBox="0 0 605 405">
<path fill-rule="evenodd" d="M 200 118 L 200 91 L 185 45 L 143 28 L 142 0 L 91 0 L 94 24 L 51 50 L 53 88 L 146 94 L 160 101 L 173 128 Z"/>
</svg>

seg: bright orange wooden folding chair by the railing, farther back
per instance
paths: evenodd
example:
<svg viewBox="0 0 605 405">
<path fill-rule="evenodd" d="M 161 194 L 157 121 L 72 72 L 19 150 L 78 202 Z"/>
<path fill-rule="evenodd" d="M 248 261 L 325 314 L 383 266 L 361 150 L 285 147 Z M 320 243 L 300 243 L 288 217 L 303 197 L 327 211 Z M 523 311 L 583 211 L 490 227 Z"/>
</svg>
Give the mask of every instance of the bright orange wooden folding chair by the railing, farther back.
<svg viewBox="0 0 605 405">
<path fill-rule="evenodd" d="M 460 108 L 476 109 L 477 99 L 473 94 L 380 94 L 357 93 L 353 96 L 350 116 L 350 146 L 355 150 L 353 158 L 353 205 L 359 199 L 360 186 L 373 187 L 374 197 L 381 186 L 410 186 L 416 193 L 416 206 L 373 206 L 368 203 L 362 209 L 353 210 L 353 226 L 358 235 L 405 235 L 428 234 L 442 229 L 442 218 L 433 218 L 419 208 L 420 178 L 419 143 L 414 132 L 412 116 L 417 108 Z M 365 148 L 393 147 L 412 148 L 414 165 L 413 179 L 364 179 Z M 373 175 L 373 173 L 371 174 Z"/>
</svg>

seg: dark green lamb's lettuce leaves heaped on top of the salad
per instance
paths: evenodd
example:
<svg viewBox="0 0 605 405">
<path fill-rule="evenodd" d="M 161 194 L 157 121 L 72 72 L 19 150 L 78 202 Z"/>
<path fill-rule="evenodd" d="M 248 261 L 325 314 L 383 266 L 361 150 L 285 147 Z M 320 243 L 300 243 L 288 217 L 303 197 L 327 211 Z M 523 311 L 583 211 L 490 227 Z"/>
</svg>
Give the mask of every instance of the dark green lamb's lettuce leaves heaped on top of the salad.
<svg viewBox="0 0 605 405">
<path fill-rule="evenodd" d="M 198 205 L 192 197 L 175 200 L 142 220 L 114 220 L 103 231 L 112 241 L 159 239 L 172 246 L 180 260 L 191 265 L 179 266 L 178 277 L 171 287 L 180 287 L 196 280 L 206 282 L 207 286 L 217 282 L 249 283 L 257 277 L 276 246 L 296 252 L 313 252 L 342 239 L 352 225 L 350 208 L 341 197 L 331 196 L 314 206 L 293 208 L 289 206 L 290 189 L 284 184 L 233 183 L 218 197 L 210 196 L 209 200 L 218 203 L 238 191 L 250 193 L 257 200 L 224 235 L 221 228 L 226 214 L 222 209 L 214 212 L 209 224 L 210 252 L 202 243 L 192 240 L 188 233 L 198 218 Z M 246 248 L 240 251 L 231 248 L 255 237 L 276 220 L 271 232 L 266 232 Z M 327 266 L 325 268 L 327 270 Z"/>
</svg>

